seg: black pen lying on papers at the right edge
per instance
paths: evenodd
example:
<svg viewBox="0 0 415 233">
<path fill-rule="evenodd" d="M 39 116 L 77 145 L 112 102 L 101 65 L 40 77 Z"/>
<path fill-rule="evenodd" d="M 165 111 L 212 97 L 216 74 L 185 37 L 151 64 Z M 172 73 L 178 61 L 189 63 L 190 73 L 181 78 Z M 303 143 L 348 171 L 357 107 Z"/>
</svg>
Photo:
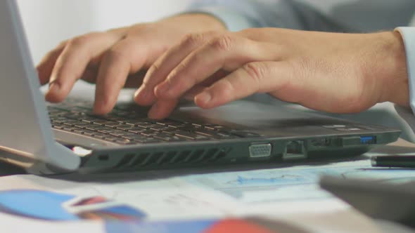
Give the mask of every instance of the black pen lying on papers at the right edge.
<svg viewBox="0 0 415 233">
<path fill-rule="evenodd" d="M 397 168 L 415 168 L 415 156 L 411 155 L 387 155 L 371 158 L 372 166 L 378 167 L 397 167 Z"/>
</svg>

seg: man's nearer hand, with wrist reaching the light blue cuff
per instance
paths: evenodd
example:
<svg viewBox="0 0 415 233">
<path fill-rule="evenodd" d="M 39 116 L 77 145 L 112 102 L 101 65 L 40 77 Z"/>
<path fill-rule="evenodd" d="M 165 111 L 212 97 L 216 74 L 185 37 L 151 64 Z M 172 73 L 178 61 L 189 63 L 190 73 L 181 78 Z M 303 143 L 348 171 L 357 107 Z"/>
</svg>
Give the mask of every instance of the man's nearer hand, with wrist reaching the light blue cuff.
<svg viewBox="0 0 415 233">
<path fill-rule="evenodd" d="M 336 113 L 409 106 L 402 38 L 276 28 L 189 34 L 155 61 L 135 100 L 162 119 L 186 95 L 210 108 L 253 93 Z"/>
</svg>

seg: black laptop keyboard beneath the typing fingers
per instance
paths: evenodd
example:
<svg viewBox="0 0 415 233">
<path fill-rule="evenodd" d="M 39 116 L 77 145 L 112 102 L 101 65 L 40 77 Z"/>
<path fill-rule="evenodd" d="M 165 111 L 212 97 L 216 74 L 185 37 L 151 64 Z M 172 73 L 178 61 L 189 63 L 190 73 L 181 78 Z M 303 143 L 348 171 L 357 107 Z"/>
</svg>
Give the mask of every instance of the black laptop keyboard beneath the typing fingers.
<svg viewBox="0 0 415 233">
<path fill-rule="evenodd" d="M 59 105 L 49 105 L 52 127 L 79 135 L 89 136 L 119 145 L 158 142 L 184 142 L 256 138 L 257 133 L 226 128 L 215 124 L 147 118 L 147 111 L 136 105 L 117 105 L 113 112 L 97 116 L 92 103 L 68 100 Z"/>
</svg>

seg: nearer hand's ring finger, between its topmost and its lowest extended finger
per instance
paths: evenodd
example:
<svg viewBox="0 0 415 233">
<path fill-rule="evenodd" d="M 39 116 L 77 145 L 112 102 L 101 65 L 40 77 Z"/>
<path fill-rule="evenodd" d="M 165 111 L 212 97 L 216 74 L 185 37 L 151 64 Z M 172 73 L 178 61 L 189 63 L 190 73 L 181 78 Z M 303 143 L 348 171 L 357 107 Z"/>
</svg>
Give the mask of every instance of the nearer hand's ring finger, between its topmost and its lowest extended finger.
<svg viewBox="0 0 415 233">
<path fill-rule="evenodd" d="M 279 48 L 270 44 L 238 36 L 219 36 L 177 65 L 167 79 L 156 86 L 155 95 L 164 99 L 179 98 L 219 69 L 233 71 L 248 62 L 278 60 L 280 55 Z"/>
</svg>

